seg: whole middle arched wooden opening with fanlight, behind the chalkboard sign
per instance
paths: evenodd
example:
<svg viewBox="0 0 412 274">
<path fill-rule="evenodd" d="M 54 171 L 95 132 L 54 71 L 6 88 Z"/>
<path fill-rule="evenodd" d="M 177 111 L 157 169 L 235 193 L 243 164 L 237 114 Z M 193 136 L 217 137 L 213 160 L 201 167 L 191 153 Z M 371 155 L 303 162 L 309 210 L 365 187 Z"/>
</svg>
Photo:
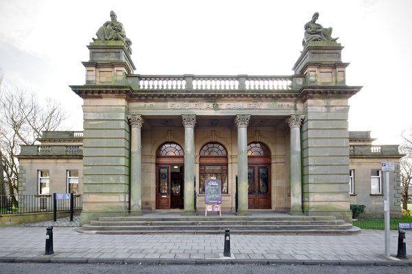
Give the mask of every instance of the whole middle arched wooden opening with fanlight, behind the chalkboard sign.
<svg viewBox="0 0 412 274">
<path fill-rule="evenodd" d="M 227 185 L 227 151 L 218 142 L 208 142 L 199 153 L 199 193 L 205 193 L 205 180 L 219 179 L 223 194 L 229 192 Z"/>
</svg>

